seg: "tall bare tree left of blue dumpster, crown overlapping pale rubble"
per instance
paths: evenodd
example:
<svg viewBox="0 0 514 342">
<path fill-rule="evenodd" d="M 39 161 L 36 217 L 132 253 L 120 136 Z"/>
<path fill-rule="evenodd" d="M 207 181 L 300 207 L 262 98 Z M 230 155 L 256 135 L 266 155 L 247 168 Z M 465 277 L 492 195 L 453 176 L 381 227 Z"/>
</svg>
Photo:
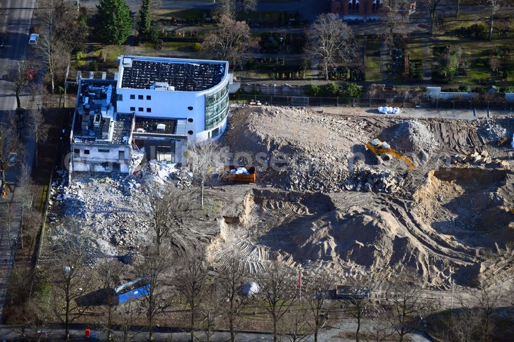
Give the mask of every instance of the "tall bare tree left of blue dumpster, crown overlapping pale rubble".
<svg viewBox="0 0 514 342">
<path fill-rule="evenodd" d="M 81 230 L 80 223 L 71 218 L 62 221 L 50 243 L 56 259 L 52 273 L 53 308 L 64 324 L 66 340 L 69 340 L 71 322 L 88 308 L 87 303 L 80 303 L 78 299 L 93 287 L 86 264 L 96 257 L 98 246 Z"/>
</svg>

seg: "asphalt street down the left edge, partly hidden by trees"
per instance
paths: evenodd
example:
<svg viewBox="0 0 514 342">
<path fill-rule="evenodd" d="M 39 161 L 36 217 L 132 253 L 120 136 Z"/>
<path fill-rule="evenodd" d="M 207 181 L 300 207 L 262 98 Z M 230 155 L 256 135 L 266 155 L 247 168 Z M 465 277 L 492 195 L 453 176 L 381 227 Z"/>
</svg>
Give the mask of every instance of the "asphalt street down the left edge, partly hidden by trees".
<svg viewBox="0 0 514 342">
<path fill-rule="evenodd" d="M 6 79 L 6 73 L 16 61 L 22 61 L 27 53 L 27 42 L 34 0 L 3 0 L 0 23 L 7 38 L 5 45 L 0 49 L 0 121 L 6 120 L 9 111 L 16 109 L 16 98 L 12 90 L 13 84 Z M 22 107 L 27 106 L 28 97 L 22 97 Z M 25 162 L 32 166 L 34 159 L 34 143 L 27 139 L 26 132 L 22 132 L 22 141 L 25 142 Z M 23 162 L 23 160 L 19 160 Z M 7 170 L 6 180 L 12 183 L 15 180 L 15 169 Z M 12 255 L 9 241 L 16 242 L 20 235 L 21 227 L 21 193 L 20 188 L 12 185 L 14 190 L 0 200 L 0 213 L 9 205 L 11 215 L 11 231 L 7 231 L 5 224 L 0 225 L 0 320 L 4 318 L 4 306 L 7 296 L 7 284 L 9 283 Z"/>
</svg>

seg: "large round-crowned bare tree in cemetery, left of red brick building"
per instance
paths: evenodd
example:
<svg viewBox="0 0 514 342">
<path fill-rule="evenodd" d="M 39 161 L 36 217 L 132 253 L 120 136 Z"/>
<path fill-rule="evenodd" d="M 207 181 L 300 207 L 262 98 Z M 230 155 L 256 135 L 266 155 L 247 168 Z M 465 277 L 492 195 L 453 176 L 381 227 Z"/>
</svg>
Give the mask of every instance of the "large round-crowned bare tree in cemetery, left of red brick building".
<svg viewBox="0 0 514 342">
<path fill-rule="evenodd" d="M 325 80 L 328 80 L 329 70 L 339 64 L 350 62 L 356 55 L 357 43 L 352 29 L 332 13 L 319 15 L 306 35 L 307 58 L 319 61 Z"/>
</svg>

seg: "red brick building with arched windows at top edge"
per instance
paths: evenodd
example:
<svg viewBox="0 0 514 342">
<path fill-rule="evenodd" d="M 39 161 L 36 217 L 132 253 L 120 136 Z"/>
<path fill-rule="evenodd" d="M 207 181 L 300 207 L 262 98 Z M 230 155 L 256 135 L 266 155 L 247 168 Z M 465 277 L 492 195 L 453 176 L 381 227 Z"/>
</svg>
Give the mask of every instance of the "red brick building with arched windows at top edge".
<svg viewBox="0 0 514 342">
<path fill-rule="evenodd" d="M 330 7 L 340 20 L 382 20 L 381 7 L 387 0 L 332 0 Z M 416 10 L 416 2 L 413 1 L 409 14 Z"/>
</svg>

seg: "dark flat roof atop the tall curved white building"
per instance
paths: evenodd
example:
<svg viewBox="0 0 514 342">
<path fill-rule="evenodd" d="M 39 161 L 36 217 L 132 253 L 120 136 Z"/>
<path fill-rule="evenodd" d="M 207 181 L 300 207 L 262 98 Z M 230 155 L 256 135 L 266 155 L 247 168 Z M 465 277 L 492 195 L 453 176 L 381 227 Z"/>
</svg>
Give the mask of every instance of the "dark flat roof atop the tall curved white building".
<svg viewBox="0 0 514 342">
<path fill-rule="evenodd" d="M 128 59 L 126 57 L 125 59 Z M 123 66 L 122 88 L 151 89 L 155 82 L 167 82 L 177 91 L 207 90 L 223 80 L 226 62 L 205 63 L 145 61 L 132 59 Z"/>
</svg>

